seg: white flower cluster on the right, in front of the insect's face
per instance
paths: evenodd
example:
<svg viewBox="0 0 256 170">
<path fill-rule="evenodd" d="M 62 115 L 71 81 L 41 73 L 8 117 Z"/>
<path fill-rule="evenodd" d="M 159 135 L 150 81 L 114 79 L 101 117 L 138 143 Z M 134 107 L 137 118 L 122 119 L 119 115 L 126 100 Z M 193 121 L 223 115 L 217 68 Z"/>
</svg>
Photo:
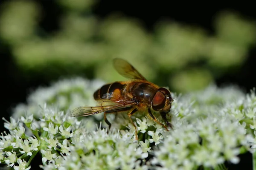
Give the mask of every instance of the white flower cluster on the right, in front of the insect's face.
<svg viewBox="0 0 256 170">
<path fill-rule="evenodd" d="M 224 161 L 238 164 L 242 150 L 255 152 L 255 91 L 246 96 L 230 88 L 213 88 L 189 94 L 190 99 L 180 97 L 174 104 L 175 130 L 164 132 L 162 143 L 153 148 L 153 169 L 215 168 Z M 189 102 L 179 102 L 186 99 Z"/>
</svg>

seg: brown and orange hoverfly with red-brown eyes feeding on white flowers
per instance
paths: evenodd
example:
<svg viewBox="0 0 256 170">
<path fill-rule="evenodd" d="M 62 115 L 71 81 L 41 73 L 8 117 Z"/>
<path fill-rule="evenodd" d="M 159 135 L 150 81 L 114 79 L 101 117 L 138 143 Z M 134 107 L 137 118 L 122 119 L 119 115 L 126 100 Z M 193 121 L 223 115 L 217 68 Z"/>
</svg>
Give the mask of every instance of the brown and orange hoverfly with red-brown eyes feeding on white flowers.
<svg viewBox="0 0 256 170">
<path fill-rule="evenodd" d="M 70 116 L 90 116 L 104 112 L 105 122 L 109 129 L 111 123 L 106 115 L 109 113 L 128 112 L 128 117 L 135 127 L 135 138 L 138 140 L 137 128 L 131 119 L 137 111 L 144 111 L 147 116 L 166 128 L 172 128 L 172 124 L 166 119 L 166 114 L 172 108 L 172 96 L 166 88 L 160 87 L 152 82 L 148 82 L 130 63 L 124 59 L 113 59 L 116 71 L 123 77 L 129 78 L 128 81 L 117 81 L 103 85 L 94 92 L 93 97 L 100 103 L 99 106 L 79 107 L 72 111 Z M 159 122 L 153 111 L 159 111 L 166 125 Z"/>
</svg>

